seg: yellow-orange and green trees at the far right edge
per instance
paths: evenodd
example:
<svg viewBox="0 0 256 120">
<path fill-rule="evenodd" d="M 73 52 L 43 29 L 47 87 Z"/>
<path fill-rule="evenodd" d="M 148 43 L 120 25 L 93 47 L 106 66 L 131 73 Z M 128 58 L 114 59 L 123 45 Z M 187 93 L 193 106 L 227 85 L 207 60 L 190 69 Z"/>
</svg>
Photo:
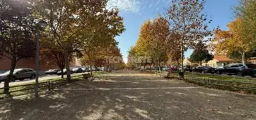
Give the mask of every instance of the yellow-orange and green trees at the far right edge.
<svg viewBox="0 0 256 120">
<path fill-rule="evenodd" d="M 227 54 L 230 58 L 242 63 L 255 56 L 255 7 L 255 0 L 241 0 L 234 9 L 236 19 L 227 25 L 229 30 L 218 29 L 214 32 L 212 48 L 217 53 Z"/>
</svg>

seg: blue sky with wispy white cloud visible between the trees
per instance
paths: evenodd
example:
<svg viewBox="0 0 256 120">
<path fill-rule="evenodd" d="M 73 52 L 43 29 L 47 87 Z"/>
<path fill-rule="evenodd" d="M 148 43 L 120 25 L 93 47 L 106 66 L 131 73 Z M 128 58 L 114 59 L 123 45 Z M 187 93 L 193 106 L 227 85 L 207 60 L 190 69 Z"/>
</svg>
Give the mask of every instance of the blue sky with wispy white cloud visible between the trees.
<svg viewBox="0 0 256 120">
<path fill-rule="evenodd" d="M 207 0 L 204 12 L 212 18 L 209 29 L 220 26 L 227 30 L 227 24 L 234 20 L 233 6 L 236 6 L 239 0 Z M 118 7 L 120 16 L 124 19 L 125 31 L 115 39 L 119 42 L 119 48 L 123 54 L 125 63 L 128 58 L 128 50 L 136 44 L 141 25 L 147 19 L 154 19 L 159 14 L 165 16 L 166 10 L 171 6 L 171 0 L 109 0 L 108 8 Z M 185 52 L 188 58 L 193 50 Z"/>
</svg>

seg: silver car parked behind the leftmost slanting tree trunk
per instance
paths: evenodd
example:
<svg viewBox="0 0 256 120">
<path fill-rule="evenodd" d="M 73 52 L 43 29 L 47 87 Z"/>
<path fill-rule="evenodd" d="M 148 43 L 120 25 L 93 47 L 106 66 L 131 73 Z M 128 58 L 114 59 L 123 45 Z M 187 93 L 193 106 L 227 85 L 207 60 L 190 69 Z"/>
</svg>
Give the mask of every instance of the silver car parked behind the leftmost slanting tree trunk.
<svg viewBox="0 0 256 120">
<path fill-rule="evenodd" d="M 0 82 L 5 81 L 8 79 L 10 71 L 6 71 L 4 74 L 0 74 Z M 36 71 L 33 69 L 14 69 L 14 78 L 11 79 L 12 81 L 20 80 L 23 81 L 24 79 L 35 79 Z"/>
</svg>

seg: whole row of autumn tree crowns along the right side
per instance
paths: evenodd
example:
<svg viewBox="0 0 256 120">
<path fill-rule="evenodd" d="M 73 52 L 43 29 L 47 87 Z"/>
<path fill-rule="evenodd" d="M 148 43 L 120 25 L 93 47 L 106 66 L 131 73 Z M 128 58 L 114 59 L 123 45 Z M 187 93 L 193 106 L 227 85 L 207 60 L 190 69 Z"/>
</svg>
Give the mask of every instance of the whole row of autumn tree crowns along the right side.
<svg viewBox="0 0 256 120">
<path fill-rule="evenodd" d="M 143 24 L 136 46 L 129 51 L 129 57 L 151 56 L 153 64 L 158 64 L 158 61 L 166 63 L 166 60 L 170 59 L 183 66 L 186 49 L 194 49 L 190 60 L 200 65 L 202 62 L 213 59 L 209 51 L 226 55 L 242 63 L 255 56 L 256 1 L 241 0 L 235 7 L 236 19 L 227 25 L 229 30 L 217 28 L 213 32 L 207 29 L 207 24 L 212 20 L 207 21 L 208 17 L 203 13 L 204 4 L 204 0 L 172 0 L 172 5 L 166 12 L 166 18 L 159 16 Z M 153 28 L 158 19 L 165 19 L 161 24 L 167 23 L 169 27 Z M 169 35 L 166 36 L 165 33 Z M 161 36 L 162 38 L 153 38 L 158 34 L 164 35 Z M 153 56 L 154 53 L 158 53 L 158 56 Z"/>
</svg>

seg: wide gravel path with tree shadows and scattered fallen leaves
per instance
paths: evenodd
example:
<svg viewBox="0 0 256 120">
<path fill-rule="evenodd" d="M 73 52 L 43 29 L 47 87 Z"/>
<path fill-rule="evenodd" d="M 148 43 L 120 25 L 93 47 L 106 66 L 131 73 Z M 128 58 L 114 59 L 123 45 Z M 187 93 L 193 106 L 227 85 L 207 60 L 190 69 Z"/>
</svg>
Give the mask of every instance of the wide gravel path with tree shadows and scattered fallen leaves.
<svg viewBox="0 0 256 120">
<path fill-rule="evenodd" d="M 151 74 L 115 72 L 40 99 L 0 101 L 0 119 L 256 119 L 256 96 L 205 89 Z"/>
</svg>

